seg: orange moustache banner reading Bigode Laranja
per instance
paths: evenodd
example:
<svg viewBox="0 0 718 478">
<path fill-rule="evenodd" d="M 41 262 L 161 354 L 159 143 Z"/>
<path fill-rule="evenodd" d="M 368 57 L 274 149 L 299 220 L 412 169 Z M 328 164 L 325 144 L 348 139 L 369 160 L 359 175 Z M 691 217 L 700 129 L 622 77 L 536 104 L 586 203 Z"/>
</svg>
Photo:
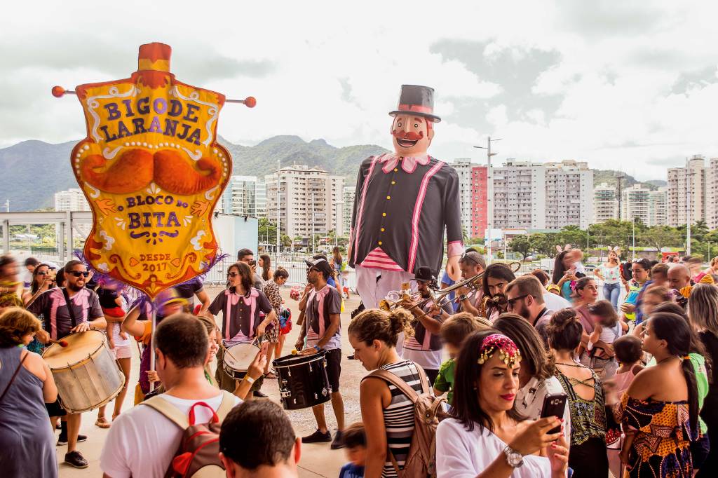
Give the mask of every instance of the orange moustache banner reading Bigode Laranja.
<svg viewBox="0 0 718 478">
<path fill-rule="evenodd" d="M 171 52 L 144 44 L 130 78 L 75 89 L 87 137 L 70 161 L 93 212 L 85 258 L 151 298 L 212 265 L 212 215 L 232 174 L 216 142 L 225 97 L 177 81 Z"/>
</svg>

